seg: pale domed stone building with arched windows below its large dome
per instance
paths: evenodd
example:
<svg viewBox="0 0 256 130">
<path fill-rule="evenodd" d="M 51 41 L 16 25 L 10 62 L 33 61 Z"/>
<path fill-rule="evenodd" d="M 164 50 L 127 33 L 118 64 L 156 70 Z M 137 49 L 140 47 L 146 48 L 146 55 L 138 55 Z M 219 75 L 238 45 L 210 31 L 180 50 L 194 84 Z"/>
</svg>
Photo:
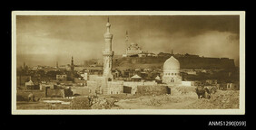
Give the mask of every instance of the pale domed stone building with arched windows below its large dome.
<svg viewBox="0 0 256 130">
<path fill-rule="evenodd" d="M 165 60 L 163 63 L 162 82 L 166 84 L 181 84 L 180 62 L 174 57 Z"/>
</svg>

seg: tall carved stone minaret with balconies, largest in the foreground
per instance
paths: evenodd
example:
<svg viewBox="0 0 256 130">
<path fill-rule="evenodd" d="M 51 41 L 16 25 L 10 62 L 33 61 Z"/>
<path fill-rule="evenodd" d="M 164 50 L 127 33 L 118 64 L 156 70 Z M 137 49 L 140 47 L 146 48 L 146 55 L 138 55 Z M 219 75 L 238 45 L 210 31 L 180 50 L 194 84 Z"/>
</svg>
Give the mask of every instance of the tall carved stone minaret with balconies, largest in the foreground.
<svg viewBox="0 0 256 130">
<path fill-rule="evenodd" d="M 105 79 L 113 79 L 112 75 L 112 60 L 113 60 L 113 51 L 112 51 L 112 39 L 113 34 L 110 33 L 109 18 L 106 23 L 107 31 L 104 33 L 105 39 L 105 48 L 103 50 L 103 77 Z"/>
</svg>

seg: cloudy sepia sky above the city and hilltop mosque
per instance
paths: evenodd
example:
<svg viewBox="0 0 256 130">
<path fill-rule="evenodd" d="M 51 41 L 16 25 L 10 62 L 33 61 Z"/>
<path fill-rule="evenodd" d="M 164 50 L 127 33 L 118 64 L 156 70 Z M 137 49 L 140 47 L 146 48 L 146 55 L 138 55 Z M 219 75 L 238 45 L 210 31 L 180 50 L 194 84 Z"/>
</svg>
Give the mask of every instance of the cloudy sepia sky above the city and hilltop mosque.
<svg viewBox="0 0 256 130">
<path fill-rule="evenodd" d="M 17 15 L 17 67 L 55 66 L 102 59 L 108 16 Z M 204 57 L 230 58 L 239 65 L 239 15 L 111 15 L 113 51 L 125 51 L 129 42 L 143 51 L 190 53 Z"/>
</svg>

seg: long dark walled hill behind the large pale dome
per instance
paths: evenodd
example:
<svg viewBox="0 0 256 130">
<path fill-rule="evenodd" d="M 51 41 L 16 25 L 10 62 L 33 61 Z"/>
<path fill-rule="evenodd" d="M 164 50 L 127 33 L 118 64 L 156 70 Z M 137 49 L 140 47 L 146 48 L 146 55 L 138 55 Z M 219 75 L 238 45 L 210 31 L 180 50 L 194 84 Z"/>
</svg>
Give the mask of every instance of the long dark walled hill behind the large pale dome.
<svg viewBox="0 0 256 130">
<path fill-rule="evenodd" d="M 175 57 L 175 56 L 174 56 Z M 170 57 L 126 57 L 113 60 L 113 68 L 126 69 L 162 69 L 165 60 Z M 180 61 L 181 69 L 234 69 L 234 60 L 228 58 L 175 57 Z"/>
</svg>

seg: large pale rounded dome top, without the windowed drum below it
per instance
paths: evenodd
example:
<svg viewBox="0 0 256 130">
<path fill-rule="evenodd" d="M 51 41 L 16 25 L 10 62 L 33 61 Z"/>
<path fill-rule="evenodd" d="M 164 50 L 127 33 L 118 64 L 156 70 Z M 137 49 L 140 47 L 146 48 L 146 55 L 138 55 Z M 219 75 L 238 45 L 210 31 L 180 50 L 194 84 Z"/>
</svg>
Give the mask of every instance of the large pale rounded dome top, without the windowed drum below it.
<svg viewBox="0 0 256 130">
<path fill-rule="evenodd" d="M 163 71 L 164 70 L 180 70 L 179 60 L 176 60 L 174 57 L 165 60 L 163 63 Z"/>
</svg>

